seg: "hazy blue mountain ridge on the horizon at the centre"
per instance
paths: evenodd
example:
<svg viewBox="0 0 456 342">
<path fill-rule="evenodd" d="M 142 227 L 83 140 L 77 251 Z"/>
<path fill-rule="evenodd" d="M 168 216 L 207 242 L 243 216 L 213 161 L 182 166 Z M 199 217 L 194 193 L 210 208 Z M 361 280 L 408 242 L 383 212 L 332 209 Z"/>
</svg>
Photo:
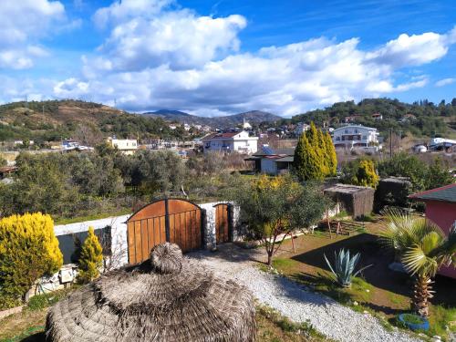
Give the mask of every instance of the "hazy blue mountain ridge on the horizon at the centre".
<svg viewBox="0 0 456 342">
<path fill-rule="evenodd" d="M 147 112 L 143 113 L 142 115 L 148 116 L 150 118 L 161 118 L 171 121 L 177 121 L 180 123 L 208 125 L 213 128 L 221 129 L 230 128 L 242 124 L 244 119 L 251 124 L 259 124 L 261 122 L 275 122 L 279 119 L 282 119 L 281 117 L 275 114 L 271 114 L 261 110 L 252 110 L 244 113 L 213 118 L 199 117 L 196 115 L 184 113 L 179 110 L 168 109 Z"/>
</svg>

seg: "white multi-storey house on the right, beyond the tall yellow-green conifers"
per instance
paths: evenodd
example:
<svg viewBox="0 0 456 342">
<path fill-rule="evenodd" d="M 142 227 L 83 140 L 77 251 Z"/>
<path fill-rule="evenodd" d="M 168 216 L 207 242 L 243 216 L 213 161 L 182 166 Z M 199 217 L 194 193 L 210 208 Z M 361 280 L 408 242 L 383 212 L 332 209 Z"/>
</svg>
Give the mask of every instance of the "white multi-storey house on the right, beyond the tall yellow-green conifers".
<svg viewBox="0 0 456 342">
<path fill-rule="evenodd" d="M 333 132 L 335 147 L 369 147 L 378 145 L 378 131 L 361 125 L 341 127 Z"/>
</svg>

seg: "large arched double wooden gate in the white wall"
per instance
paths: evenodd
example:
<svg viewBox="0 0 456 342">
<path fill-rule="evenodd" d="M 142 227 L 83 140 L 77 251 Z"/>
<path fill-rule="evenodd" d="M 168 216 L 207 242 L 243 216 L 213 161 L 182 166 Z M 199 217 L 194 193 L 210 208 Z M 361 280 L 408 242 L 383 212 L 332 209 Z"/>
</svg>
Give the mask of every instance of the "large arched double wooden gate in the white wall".
<svg viewBox="0 0 456 342">
<path fill-rule="evenodd" d="M 150 249 L 164 242 L 178 244 L 182 252 L 202 248 L 202 210 L 185 200 L 152 202 L 127 220 L 129 263 L 150 257 Z"/>
</svg>

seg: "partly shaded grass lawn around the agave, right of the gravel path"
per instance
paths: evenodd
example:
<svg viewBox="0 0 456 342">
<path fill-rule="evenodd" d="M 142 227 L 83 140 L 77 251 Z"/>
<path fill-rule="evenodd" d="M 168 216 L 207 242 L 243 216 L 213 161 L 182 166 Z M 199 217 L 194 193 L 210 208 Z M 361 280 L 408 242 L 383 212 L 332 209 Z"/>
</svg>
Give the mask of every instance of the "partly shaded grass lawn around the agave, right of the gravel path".
<svg viewBox="0 0 456 342">
<path fill-rule="evenodd" d="M 329 234 L 324 232 L 299 236 L 295 239 L 295 253 L 290 241 L 280 247 L 274 267 L 293 280 L 357 311 L 368 310 L 383 318 L 385 326 L 390 327 L 390 324 L 396 324 L 399 313 L 409 311 L 413 282 L 409 275 L 389 269 L 393 255 L 378 245 L 378 228 L 379 223 L 373 222 L 366 223 L 365 233 L 350 236 L 333 234 L 329 238 Z M 373 264 L 356 277 L 348 289 L 334 284 L 324 259 L 326 254 L 328 260 L 333 261 L 334 252 L 340 248 L 361 253 L 358 268 Z M 433 287 L 436 294 L 431 299 L 429 334 L 445 337 L 446 326 L 456 331 L 456 280 L 438 275 Z"/>
</svg>

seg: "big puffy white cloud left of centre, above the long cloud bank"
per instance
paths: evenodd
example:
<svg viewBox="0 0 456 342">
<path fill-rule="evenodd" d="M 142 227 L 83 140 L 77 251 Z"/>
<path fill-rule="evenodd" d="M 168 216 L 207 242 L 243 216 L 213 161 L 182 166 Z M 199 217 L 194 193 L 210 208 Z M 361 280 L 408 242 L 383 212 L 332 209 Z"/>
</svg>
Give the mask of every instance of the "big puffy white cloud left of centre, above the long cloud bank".
<svg viewBox="0 0 456 342">
<path fill-rule="evenodd" d="M 123 4 L 123 3 L 122 3 Z M 137 71 L 168 64 L 173 69 L 202 67 L 239 49 L 243 16 L 212 18 L 187 10 L 151 19 L 136 17 L 115 26 L 99 47 L 113 69 Z"/>
</svg>

